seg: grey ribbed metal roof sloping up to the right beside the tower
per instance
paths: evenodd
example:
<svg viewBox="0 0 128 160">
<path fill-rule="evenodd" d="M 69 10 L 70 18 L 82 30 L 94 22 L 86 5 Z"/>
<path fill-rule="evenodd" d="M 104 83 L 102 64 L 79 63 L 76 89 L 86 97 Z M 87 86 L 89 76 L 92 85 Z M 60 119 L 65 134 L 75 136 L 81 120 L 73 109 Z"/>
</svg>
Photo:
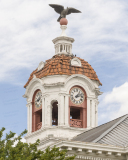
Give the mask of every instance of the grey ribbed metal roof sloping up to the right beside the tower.
<svg viewBox="0 0 128 160">
<path fill-rule="evenodd" d="M 127 146 L 128 114 L 79 134 L 72 140 Z"/>
</svg>

